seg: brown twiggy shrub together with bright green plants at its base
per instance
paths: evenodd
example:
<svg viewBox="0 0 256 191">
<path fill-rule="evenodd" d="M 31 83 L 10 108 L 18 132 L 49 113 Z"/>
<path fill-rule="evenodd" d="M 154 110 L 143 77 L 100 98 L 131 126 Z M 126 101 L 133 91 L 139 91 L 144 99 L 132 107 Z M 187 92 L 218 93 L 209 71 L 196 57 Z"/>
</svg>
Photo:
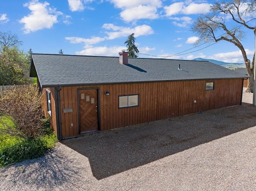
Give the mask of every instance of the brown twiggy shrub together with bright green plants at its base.
<svg viewBox="0 0 256 191">
<path fill-rule="evenodd" d="M 57 141 L 33 86 L 0 95 L 0 167 L 42 156 Z"/>
</svg>

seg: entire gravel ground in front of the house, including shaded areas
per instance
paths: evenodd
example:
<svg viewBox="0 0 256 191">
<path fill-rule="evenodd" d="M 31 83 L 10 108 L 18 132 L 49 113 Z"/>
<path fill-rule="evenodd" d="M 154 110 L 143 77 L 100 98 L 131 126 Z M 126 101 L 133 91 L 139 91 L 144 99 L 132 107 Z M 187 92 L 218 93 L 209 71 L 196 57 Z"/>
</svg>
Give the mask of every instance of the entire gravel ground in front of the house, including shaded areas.
<svg viewBox="0 0 256 191">
<path fill-rule="evenodd" d="M 0 169 L 0 191 L 256 190 L 256 107 L 170 118 L 58 142 Z"/>
</svg>

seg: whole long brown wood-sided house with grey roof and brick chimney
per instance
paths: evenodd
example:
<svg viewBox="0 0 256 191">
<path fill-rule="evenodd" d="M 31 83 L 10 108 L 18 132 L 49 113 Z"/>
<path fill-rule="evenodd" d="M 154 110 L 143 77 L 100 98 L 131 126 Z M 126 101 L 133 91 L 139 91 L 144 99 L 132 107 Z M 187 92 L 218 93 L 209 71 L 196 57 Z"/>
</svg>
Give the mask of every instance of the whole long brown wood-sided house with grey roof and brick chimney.
<svg viewBox="0 0 256 191">
<path fill-rule="evenodd" d="M 244 75 L 208 61 L 32 54 L 58 139 L 242 102 Z"/>
</svg>

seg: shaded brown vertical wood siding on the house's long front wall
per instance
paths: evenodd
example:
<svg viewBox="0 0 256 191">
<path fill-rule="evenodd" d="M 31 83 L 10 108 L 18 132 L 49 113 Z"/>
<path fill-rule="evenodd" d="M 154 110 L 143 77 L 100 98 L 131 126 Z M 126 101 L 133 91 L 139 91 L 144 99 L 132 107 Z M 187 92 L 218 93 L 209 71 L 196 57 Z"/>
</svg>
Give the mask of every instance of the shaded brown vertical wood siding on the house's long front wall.
<svg viewBox="0 0 256 191">
<path fill-rule="evenodd" d="M 100 130 L 110 130 L 238 105 L 241 103 L 242 80 L 216 79 L 62 87 L 60 91 L 62 137 L 78 135 L 78 88 L 99 88 Z M 205 90 L 207 81 L 214 81 L 214 90 Z M 110 95 L 105 95 L 105 91 L 109 91 Z M 118 108 L 118 96 L 137 94 L 139 106 Z M 73 112 L 63 112 L 63 108 L 70 107 L 73 108 Z"/>
</svg>

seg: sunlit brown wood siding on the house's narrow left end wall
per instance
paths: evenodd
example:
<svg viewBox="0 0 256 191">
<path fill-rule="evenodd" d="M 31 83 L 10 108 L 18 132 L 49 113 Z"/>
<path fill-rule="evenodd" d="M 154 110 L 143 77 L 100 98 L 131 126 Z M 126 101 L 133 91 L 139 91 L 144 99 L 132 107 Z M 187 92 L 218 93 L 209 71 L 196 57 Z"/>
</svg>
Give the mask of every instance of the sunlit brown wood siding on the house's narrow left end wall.
<svg viewBox="0 0 256 191">
<path fill-rule="evenodd" d="M 51 112 L 52 116 L 47 111 L 47 97 L 46 97 L 46 89 L 50 91 L 51 95 Z M 42 88 L 42 110 L 44 112 L 44 116 L 47 118 L 49 117 L 51 120 L 52 128 L 57 136 L 57 124 L 56 124 L 56 109 L 55 109 L 55 100 L 54 100 L 54 88 Z"/>
</svg>

